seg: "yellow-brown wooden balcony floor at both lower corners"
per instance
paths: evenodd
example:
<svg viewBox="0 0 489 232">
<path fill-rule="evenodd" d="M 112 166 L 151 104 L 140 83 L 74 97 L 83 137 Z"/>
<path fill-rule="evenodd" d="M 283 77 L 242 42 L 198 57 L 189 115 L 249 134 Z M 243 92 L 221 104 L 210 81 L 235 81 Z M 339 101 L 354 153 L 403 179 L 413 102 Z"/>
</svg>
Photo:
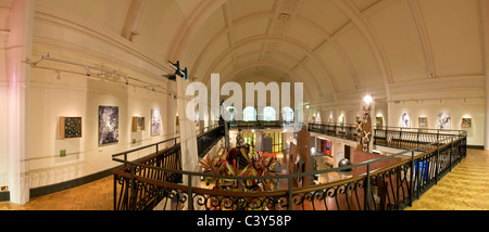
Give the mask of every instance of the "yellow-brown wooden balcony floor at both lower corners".
<svg viewBox="0 0 489 232">
<path fill-rule="evenodd" d="M 489 210 L 489 152 L 467 157 L 405 210 Z M 25 205 L 0 202 L 0 210 L 112 210 L 113 178 L 33 197 Z"/>
</svg>

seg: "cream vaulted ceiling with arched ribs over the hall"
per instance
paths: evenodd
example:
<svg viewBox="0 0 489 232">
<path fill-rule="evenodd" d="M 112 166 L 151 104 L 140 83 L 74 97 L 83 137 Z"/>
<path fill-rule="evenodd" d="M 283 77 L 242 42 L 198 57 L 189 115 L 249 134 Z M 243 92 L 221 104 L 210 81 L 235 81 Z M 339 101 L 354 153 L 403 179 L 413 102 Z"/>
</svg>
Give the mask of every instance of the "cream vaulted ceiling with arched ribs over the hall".
<svg viewBox="0 0 489 232">
<path fill-rule="evenodd" d="M 38 2 L 99 24 L 160 61 L 178 60 L 195 80 L 212 73 L 222 82 L 248 78 L 259 67 L 274 75 L 264 79 L 304 82 L 310 101 L 364 92 L 390 99 L 406 86 L 485 76 L 485 0 Z"/>
</svg>

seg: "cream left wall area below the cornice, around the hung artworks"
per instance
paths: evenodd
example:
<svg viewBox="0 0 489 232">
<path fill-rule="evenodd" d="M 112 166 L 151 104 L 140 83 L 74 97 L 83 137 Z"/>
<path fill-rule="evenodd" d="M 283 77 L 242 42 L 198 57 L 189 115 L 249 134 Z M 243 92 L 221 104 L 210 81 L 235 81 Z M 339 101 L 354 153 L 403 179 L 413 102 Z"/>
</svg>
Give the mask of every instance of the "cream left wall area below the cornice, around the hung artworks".
<svg viewBox="0 0 489 232">
<path fill-rule="evenodd" d="M 63 65 L 55 65 L 61 67 Z M 162 121 L 166 121 L 166 95 L 141 88 L 87 78 L 79 74 L 33 69 L 30 88 L 30 114 L 28 121 L 28 145 L 30 151 L 30 188 L 53 184 L 90 173 L 106 170 L 118 163 L 112 155 L 145 144 L 162 141 L 165 125 L 159 137 L 151 137 L 151 108 L 160 108 Z M 98 143 L 99 105 L 118 106 L 118 142 L 108 145 Z M 83 137 L 60 139 L 60 117 L 83 117 Z M 145 117 L 146 129 L 131 132 L 131 117 Z M 131 143 L 133 139 L 137 143 Z M 66 156 L 60 157 L 60 150 Z M 35 151 L 35 152 L 34 152 Z M 148 153 L 147 151 L 146 153 Z M 138 153 L 133 158 L 141 157 Z"/>
</svg>

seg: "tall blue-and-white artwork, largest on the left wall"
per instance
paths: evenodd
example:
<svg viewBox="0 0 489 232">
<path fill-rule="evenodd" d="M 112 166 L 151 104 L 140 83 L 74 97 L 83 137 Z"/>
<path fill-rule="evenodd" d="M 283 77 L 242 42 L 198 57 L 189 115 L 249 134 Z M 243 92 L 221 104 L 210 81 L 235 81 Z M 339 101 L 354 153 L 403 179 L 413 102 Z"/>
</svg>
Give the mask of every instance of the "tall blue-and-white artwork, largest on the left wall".
<svg viewBox="0 0 489 232">
<path fill-rule="evenodd" d="M 118 106 L 99 106 L 99 145 L 118 142 Z"/>
</svg>

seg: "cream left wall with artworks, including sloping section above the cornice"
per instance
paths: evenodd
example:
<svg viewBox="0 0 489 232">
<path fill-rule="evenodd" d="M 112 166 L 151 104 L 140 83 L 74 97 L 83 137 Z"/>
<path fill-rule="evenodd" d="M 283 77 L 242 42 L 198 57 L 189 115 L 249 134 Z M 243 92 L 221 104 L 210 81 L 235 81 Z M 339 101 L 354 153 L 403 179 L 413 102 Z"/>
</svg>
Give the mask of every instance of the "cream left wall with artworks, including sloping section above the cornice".
<svg viewBox="0 0 489 232">
<path fill-rule="evenodd" d="M 75 15 L 61 15 L 59 18 L 57 15 L 63 12 L 38 7 L 37 11 L 42 14 L 36 15 L 32 61 L 38 61 L 41 55 L 49 53 L 53 59 L 99 66 L 167 87 L 167 80 L 161 78 L 167 70 L 120 35 Z M 162 88 L 153 92 L 145 88 L 145 83 L 130 79 L 126 86 L 121 76 L 99 70 L 90 70 L 88 77 L 84 67 L 53 61 L 42 61 L 33 67 L 30 79 L 27 106 L 29 154 L 26 160 L 30 188 L 104 171 L 120 165 L 112 160 L 113 154 L 174 137 L 174 128 L 166 125 L 173 121 L 167 118 L 172 114 L 166 114 L 168 102 L 172 102 L 168 98 L 173 96 Z M 99 145 L 99 105 L 118 106 L 120 134 L 116 143 Z M 162 114 L 162 133 L 155 137 L 150 133 L 151 108 L 160 108 Z M 60 139 L 61 116 L 83 117 L 83 137 Z M 145 117 L 143 131 L 131 132 L 134 116 Z M 0 140 L 1 137 L 0 133 Z M 137 142 L 133 143 L 133 139 Z M 66 150 L 66 156 L 60 157 L 60 150 Z M 129 159 L 152 152 L 154 150 L 145 150 Z M 1 178 L 0 173 L 0 181 Z"/>
</svg>

